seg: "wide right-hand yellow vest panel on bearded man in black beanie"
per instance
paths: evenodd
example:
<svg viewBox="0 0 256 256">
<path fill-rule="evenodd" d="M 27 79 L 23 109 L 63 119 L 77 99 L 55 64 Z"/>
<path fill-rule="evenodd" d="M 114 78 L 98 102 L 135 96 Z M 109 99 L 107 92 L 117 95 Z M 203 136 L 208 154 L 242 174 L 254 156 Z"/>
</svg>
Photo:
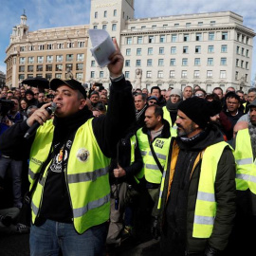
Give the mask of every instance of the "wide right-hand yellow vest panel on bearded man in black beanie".
<svg viewBox="0 0 256 256">
<path fill-rule="evenodd" d="M 209 238 L 211 235 L 216 214 L 214 183 L 220 157 L 228 145 L 222 141 L 211 145 L 204 152 L 194 210 L 192 237 Z"/>
</svg>

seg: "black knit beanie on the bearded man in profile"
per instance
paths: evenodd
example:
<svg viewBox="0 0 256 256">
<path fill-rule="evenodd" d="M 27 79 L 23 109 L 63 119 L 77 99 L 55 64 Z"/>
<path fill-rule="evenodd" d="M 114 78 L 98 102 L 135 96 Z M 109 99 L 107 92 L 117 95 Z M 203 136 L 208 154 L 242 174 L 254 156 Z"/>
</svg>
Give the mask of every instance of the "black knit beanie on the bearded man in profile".
<svg viewBox="0 0 256 256">
<path fill-rule="evenodd" d="M 200 128 L 206 128 L 210 121 L 210 103 L 198 97 L 192 97 L 181 101 L 178 110 L 182 111 L 189 119 L 192 119 Z"/>
</svg>

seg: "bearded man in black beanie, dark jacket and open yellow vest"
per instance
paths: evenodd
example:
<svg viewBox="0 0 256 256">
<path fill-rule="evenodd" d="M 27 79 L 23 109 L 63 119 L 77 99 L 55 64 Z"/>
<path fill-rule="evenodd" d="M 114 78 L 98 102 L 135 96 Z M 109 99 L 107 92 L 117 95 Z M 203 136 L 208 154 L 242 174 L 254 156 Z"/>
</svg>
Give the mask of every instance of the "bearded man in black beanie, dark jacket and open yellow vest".
<svg viewBox="0 0 256 256">
<path fill-rule="evenodd" d="M 197 97 L 178 106 L 177 137 L 171 141 L 158 203 L 162 255 L 215 256 L 228 245 L 235 163 L 210 114 L 210 103 Z"/>
</svg>

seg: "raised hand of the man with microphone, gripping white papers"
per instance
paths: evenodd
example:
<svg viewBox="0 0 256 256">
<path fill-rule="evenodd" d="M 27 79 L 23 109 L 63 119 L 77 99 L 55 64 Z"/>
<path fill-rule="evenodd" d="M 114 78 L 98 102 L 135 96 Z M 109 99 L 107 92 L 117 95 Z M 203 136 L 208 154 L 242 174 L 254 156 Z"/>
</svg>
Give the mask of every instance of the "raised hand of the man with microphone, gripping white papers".
<svg viewBox="0 0 256 256">
<path fill-rule="evenodd" d="M 119 46 L 117 43 L 117 39 L 113 39 L 114 46 L 116 47 L 116 51 L 111 54 L 109 57 L 110 64 L 107 65 L 110 77 L 111 78 L 118 78 L 119 76 L 122 75 L 122 67 L 123 67 L 123 56 L 119 50 Z"/>
</svg>

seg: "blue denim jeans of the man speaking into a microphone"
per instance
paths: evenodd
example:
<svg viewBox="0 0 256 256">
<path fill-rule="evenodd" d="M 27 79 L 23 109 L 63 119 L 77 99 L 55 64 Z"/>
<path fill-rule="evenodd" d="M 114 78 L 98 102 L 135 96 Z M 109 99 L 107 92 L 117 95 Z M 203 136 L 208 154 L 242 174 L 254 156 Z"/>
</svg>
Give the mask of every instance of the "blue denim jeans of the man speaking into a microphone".
<svg viewBox="0 0 256 256">
<path fill-rule="evenodd" d="M 30 256 L 100 256 L 104 253 L 107 225 L 103 223 L 79 234 L 73 224 L 52 220 L 30 229 Z"/>
</svg>

